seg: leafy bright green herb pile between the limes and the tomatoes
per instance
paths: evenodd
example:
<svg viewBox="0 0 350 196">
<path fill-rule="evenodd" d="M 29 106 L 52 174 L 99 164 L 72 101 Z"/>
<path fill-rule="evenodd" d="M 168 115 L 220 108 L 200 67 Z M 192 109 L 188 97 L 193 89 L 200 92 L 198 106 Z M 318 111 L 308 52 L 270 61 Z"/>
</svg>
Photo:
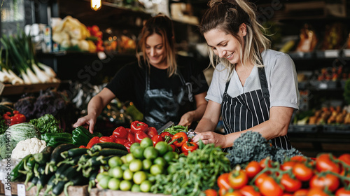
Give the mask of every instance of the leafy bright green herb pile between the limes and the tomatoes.
<svg viewBox="0 0 350 196">
<path fill-rule="evenodd" d="M 216 179 L 225 172 L 230 172 L 230 161 L 226 153 L 214 144 L 204 145 L 179 160 L 170 163 L 169 174 L 160 174 L 155 178 L 153 193 L 165 195 L 203 195 L 202 190 L 216 186 Z M 205 195 L 205 194 L 204 194 Z"/>
</svg>

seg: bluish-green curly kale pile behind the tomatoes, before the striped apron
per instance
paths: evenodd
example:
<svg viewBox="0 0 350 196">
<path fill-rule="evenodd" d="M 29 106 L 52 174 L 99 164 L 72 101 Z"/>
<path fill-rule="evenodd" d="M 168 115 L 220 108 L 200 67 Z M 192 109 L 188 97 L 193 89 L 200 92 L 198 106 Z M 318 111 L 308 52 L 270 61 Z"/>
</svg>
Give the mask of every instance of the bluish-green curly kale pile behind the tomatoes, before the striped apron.
<svg viewBox="0 0 350 196">
<path fill-rule="evenodd" d="M 236 165 L 245 164 L 253 160 L 260 161 L 267 157 L 283 163 L 286 158 L 295 155 L 302 155 L 302 153 L 293 147 L 290 150 L 285 150 L 272 146 L 259 132 L 249 131 L 241 134 L 234 141 L 232 149 L 228 151 L 226 157 L 230 160 L 231 167 L 234 168 Z"/>
</svg>

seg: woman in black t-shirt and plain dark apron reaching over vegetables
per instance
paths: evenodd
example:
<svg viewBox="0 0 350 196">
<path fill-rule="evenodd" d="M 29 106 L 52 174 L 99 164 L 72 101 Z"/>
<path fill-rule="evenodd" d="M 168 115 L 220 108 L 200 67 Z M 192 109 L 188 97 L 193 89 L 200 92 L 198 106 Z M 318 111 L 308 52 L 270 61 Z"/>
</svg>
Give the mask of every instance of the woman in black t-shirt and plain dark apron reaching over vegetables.
<svg viewBox="0 0 350 196">
<path fill-rule="evenodd" d="M 192 57 L 176 55 L 174 27 L 166 15 L 146 21 L 138 43 L 137 62 L 116 73 L 87 106 L 87 116 L 73 125 L 89 125 L 93 131 L 97 116 L 118 97 L 131 101 L 144 114 L 144 123 L 159 129 L 168 121 L 188 126 L 202 118 L 208 85 L 202 66 Z"/>
</svg>

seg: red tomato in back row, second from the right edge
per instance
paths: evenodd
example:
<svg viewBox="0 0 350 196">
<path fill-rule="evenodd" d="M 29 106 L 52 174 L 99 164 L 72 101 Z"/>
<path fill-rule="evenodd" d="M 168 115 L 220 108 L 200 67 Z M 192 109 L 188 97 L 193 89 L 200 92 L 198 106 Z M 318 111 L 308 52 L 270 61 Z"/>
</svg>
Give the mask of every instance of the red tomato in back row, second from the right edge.
<svg viewBox="0 0 350 196">
<path fill-rule="evenodd" d="M 330 172 L 335 172 L 339 174 L 340 167 L 337 163 L 333 162 L 332 160 L 335 160 L 335 157 L 330 153 L 324 153 L 324 154 L 318 155 L 316 158 L 317 171 L 318 172 L 330 171 Z"/>
</svg>

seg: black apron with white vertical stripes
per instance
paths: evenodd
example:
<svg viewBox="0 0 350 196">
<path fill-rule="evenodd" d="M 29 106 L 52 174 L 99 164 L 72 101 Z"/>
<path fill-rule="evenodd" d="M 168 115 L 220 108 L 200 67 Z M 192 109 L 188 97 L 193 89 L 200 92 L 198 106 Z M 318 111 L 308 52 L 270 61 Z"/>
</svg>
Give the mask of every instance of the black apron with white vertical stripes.
<svg viewBox="0 0 350 196">
<path fill-rule="evenodd" d="M 269 90 L 265 69 L 261 67 L 258 68 L 258 71 L 261 85 L 259 90 L 231 97 L 227 92 L 230 81 L 226 83 L 223 102 L 221 103 L 221 116 L 223 117 L 225 134 L 241 132 L 269 120 Z M 276 137 L 271 139 L 271 142 L 272 145 L 283 149 L 291 148 L 287 136 Z M 223 151 L 228 151 L 230 148 L 224 148 Z"/>
</svg>

